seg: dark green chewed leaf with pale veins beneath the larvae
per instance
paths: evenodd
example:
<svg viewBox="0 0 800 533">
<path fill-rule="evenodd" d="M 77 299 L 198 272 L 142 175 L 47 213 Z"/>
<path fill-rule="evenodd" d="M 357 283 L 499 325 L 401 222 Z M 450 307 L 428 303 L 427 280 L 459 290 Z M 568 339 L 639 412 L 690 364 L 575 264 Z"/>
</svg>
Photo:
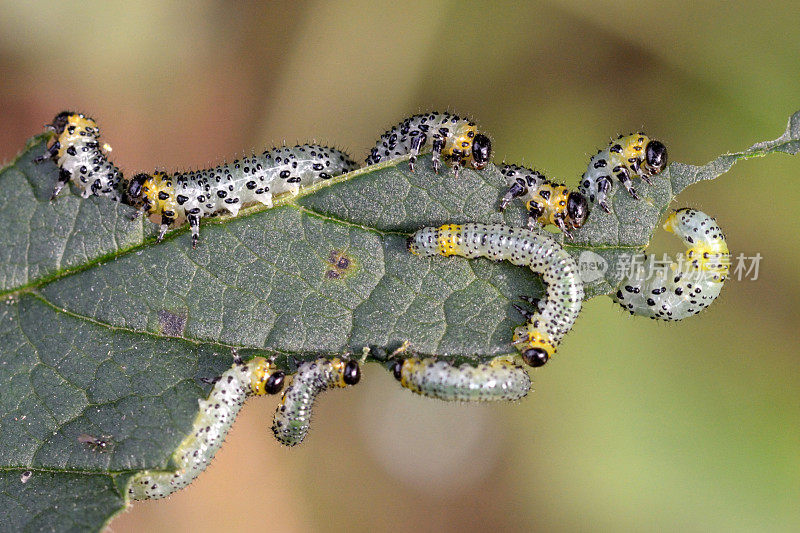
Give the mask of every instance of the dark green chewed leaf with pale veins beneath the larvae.
<svg viewBox="0 0 800 533">
<path fill-rule="evenodd" d="M 126 505 L 125 484 L 166 469 L 213 378 L 247 355 L 295 360 L 362 353 L 382 361 L 411 341 L 452 361 L 512 351 L 511 307 L 539 295 L 526 269 L 486 260 L 424 259 L 408 235 L 448 222 L 524 224 L 519 205 L 497 211 L 497 168 L 436 175 L 405 160 L 369 167 L 282 198 L 273 209 L 204 223 L 156 244 L 155 225 L 102 198 L 62 193 L 32 139 L 0 173 L 0 509 L 14 529 L 99 529 Z M 595 209 L 566 243 L 609 264 L 587 297 L 609 293 L 615 265 L 641 252 L 674 196 L 738 159 L 800 149 L 800 113 L 775 141 L 703 166 L 673 163 L 615 212 Z M 559 236 L 560 237 L 560 236 Z M 110 440 L 101 451 L 81 434 Z M 30 472 L 30 476 L 27 476 Z M 24 482 L 23 482 L 24 480 Z"/>
</svg>

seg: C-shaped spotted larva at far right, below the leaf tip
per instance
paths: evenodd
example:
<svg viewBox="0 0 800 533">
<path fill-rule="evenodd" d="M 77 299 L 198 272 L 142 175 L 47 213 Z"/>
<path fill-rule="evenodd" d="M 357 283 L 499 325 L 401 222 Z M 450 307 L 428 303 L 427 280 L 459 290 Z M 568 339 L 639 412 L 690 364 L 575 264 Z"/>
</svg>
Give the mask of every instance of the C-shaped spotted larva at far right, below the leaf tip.
<svg viewBox="0 0 800 533">
<path fill-rule="evenodd" d="M 683 239 L 685 257 L 658 265 L 645 256 L 642 268 L 622 281 L 613 299 L 632 315 L 682 320 L 711 305 L 730 267 L 725 236 L 713 218 L 696 209 L 679 209 L 664 229 Z"/>
</svg>

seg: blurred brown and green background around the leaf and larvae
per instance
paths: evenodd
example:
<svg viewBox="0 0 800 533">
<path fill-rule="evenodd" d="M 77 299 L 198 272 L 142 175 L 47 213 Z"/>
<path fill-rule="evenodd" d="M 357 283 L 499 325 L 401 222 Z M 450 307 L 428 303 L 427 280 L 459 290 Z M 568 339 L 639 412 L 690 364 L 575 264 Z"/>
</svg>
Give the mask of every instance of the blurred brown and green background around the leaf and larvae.
<svg viewBox="0 0 800 533">
<path fill-rule="evenodd" d="M 577 183 L 643 129 L 693 164 L 800 109 L 800 11 L 750 2 L 0 2 L 0 158 L 63 109 L 126 171 L 284 141 L 363 159 L 425 110 L 472 114 L 496 161 Z M 216 461 L 111 529 L 797 530 L 800 157 L 744 161 L 675 207 L 716 216 L 758 279 L 679 324 L 589 302 L 535 393 L 449 405 L 368 365 L 297 449 L 248 403 Z M 677 251 L 660 232 L 651 251 Z"/>
</svg>

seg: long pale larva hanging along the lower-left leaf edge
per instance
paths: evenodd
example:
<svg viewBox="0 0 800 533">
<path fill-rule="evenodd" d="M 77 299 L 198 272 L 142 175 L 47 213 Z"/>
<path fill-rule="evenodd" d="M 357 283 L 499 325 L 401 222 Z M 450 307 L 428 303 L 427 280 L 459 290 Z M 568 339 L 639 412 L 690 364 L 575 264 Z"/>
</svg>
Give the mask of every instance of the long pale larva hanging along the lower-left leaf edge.
<svg viewBox="0 0 800 533">
<path fill-rule="evenodd" d="M 191 433 L 172 454 L 170 462 L 176 471 L 139 472 L 128 484 L 128 496 L 134 500 L 165 498 L 189 485 L 222 446 L 245 399 L 277 394 L 283 380 L 283 371 L 267 360 L 256 357 L 245 363 L 234 353 L 233 366 L 219 377 L 208 399 L 200 400 Z"/>
</svg>

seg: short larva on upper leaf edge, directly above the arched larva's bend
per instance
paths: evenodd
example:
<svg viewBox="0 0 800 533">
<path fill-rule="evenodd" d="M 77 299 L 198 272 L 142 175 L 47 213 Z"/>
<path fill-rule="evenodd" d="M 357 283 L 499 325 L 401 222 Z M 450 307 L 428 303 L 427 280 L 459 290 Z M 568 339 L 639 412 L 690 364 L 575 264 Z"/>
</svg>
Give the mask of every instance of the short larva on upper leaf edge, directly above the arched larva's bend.
<svg viewBox="0 0 800 533">
<path fill-rule="evenodd" d="M 554 184 L 543 174 L 518 165 L 504 165 L 500 173 L 509 185 L 508 192 L 500 200 L 500 210 L 508 207 L 514 198 L 522 198 L 528 209 L 530 229 L 537 222 L 542 226 L 553 224 L 572 238 L 570 230 L 586 222 L 589 203 L 581 193 Z"/>
</svg>

